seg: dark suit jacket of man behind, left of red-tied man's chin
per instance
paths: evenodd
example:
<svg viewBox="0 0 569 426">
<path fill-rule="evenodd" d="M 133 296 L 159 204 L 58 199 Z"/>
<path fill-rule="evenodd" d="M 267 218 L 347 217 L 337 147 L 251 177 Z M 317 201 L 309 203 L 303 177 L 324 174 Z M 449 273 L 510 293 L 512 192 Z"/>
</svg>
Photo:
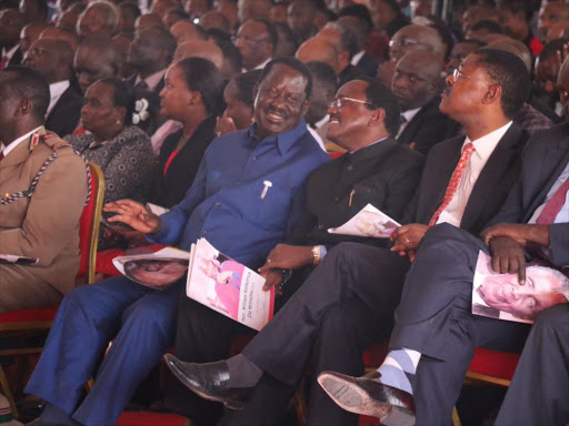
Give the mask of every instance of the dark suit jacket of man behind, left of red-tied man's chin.
<svg viewBox="0 0 569 426">
<path fill-rule="evenodd" d="M 439 103 L 440 97 L 427 102 L 407 123 L 397 141 L 407 145 L 415 143 L 415 150 L 427 155 L 437 143 L 456 136 L 461 125 L 441 113 Z"/>
</svg>

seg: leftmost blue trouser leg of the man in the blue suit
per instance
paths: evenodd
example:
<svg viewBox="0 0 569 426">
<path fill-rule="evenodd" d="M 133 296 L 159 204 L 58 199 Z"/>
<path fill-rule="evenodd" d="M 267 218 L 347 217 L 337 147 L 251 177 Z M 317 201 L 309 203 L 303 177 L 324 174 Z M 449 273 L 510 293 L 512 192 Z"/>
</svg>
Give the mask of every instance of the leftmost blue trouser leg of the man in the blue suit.
<svg viewBox="0 0 569 426">
<path fill-rule="evenodd" d="M 128 278 L 116 277 L 69 293 L 26 393 L 72 413 L 120 326 L 122 312 L 149 292 Z"/>
</svg>

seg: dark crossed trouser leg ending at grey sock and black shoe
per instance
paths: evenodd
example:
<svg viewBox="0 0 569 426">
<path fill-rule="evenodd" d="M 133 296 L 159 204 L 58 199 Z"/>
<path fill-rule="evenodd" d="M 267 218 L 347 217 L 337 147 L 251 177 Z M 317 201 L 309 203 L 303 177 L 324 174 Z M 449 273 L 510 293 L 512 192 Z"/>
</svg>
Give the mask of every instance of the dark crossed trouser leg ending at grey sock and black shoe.
<svg viewBox="0 0 569 426">
<path fill-rule="evenodd" d="M 386 273 L 395 275 L 392 267 L 398 268 L 399 275 L 401 271 L 405 274 L 406 262 L 385 248 L 353 243 L 337 245 L 244 348 L 243 355 L 274 378 L 293 385 L 302 374 L 326 310 L 355 296 L 355 287 L 367 294 L 363 290 L 382 285 Z M 385 301 L 362 300 L 383 310 Z"/>
</svg>

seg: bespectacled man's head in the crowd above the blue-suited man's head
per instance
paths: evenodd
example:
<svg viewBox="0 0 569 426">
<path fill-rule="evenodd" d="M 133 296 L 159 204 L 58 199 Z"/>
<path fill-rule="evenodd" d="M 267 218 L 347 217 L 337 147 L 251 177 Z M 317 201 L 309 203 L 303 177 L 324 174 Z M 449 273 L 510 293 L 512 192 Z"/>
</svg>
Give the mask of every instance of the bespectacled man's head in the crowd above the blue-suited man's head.
<svg viewBox="0 0 569 426">
<path fill-rule="evenodd" d="M 277 31 L 267 19 L 249 19 L 243 23 L 234 43 L 243 59 L 243 72 L 262 69 L 274 54 Z"/>
</svg>

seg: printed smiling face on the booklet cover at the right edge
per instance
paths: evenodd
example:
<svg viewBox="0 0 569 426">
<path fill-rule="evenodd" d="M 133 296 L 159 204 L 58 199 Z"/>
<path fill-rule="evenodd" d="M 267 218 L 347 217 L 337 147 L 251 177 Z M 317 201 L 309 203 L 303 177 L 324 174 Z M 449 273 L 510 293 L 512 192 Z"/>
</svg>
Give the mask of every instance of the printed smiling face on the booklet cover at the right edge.
<svg viewBox="0 0 569 426">
<path fill-rule="evenodd" d="M 477 293 L 490 307 L 531 320 L 541 311 L 567 302 L 559 293 L 563 282 L 556 275 L 543 274 L 539 266 L 528 267 L 526 285 L 519 285 L 515 274 L 487 276 Z"/>
</svg>

